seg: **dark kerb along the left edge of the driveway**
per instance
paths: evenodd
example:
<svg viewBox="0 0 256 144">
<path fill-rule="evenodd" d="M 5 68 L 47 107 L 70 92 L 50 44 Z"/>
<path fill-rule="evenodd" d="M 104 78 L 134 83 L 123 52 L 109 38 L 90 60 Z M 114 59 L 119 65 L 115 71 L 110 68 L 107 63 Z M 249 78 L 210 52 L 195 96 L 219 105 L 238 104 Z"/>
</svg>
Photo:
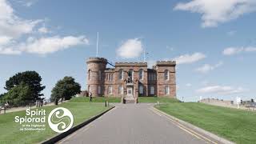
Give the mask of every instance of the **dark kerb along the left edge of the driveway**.
<svg viewBox="0 0 256 144">
<path fill-rule="evenodd" d="M 83 126 L 86 126 L 90 122 L 93 122 L 95 119 L 101 117 L 103 114 L 106 114 L 106 112 L 114 109 L 114 107 L 115 106 L 111 107 L 109 110 L 106 110 L 106 111 L 102 112 L 101 114 L 98 114 L 98 115 L 94 116 L 93 118 L 88 119 L 86 122 L 80 123 L 78 126 L 72 127 L 70 130 L 66 131 L 65 133 L 58 134 L 58 135 L 54 136 L 53 138 L 50 138 L 50 139 L 47 139 L 46 141 L 41 142 L 41 144 L 51 144 L 51 143 L 55 143 L 55 142 L 60 141 L 62 138 L 65 138 L 66 136 L 74 133 L 76 130 L 82 128 Z"/>
</svg>

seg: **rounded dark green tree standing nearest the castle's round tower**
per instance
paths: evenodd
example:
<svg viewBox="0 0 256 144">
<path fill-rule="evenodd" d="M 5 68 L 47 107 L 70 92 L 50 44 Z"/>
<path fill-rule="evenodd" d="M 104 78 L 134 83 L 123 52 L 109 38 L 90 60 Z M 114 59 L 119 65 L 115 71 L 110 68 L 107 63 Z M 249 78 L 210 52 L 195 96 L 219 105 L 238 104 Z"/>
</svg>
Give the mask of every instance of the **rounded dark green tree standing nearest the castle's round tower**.
<svg viewBox="0 0 256 144">
<path fill-rule="evenodd" d="M 51 90 L 50 101 L 54 102 L 57 98 L 62 98 L 64 100 L 69 100 L 75 94 L 81 92 L 81 86 L 78 82 L 74 81 L 72 77 L 64 77 L 62 80 L 59 80 Z"/>
</svg>

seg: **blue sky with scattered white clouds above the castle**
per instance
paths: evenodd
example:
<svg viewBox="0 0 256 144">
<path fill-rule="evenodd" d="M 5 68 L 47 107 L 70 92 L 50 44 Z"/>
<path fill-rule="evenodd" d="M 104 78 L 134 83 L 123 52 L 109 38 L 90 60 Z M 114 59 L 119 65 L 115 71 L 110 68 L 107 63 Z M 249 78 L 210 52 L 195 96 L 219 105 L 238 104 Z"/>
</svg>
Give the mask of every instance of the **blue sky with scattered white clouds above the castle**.
<svg viewBox="0 0 256 144">
<path fill-rule="evenodd" d="M 177 98 L 256 98 L 254 0 L 0 0 L 0 94 L 35 70 L 50 98 L 72 76 L 86 90 L 86 59 L 177 62 Z"/>
</svg>

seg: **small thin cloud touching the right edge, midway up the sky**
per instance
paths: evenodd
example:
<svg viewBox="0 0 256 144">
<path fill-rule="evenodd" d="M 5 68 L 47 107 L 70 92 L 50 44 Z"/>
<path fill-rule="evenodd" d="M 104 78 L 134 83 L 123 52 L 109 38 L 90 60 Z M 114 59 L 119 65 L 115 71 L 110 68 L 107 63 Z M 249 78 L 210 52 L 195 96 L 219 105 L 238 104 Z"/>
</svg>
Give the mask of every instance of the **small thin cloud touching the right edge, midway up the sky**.
<svg viewBox="0 0 256 144">
<path fill-rule="evenodd" d="M 228 47 L 225 50 L 223 50 L 222 54 L 224 55 L 234 55 L 234 54 L 240 54 L 242 52 L 255 52 L 256 47 L 248 46 L 248 47 Z"/>
</svg>

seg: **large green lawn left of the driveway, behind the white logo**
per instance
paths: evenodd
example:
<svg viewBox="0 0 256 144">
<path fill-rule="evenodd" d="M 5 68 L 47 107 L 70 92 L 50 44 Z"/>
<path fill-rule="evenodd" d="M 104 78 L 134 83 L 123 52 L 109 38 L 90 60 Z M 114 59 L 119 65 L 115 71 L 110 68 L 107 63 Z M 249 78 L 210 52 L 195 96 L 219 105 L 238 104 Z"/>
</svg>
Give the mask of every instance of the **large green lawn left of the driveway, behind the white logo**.
<svg viewBox="0 0 256 144">
<path fill-rule="evenodd" d="M 100 114 L 101 112 L 109 109 L 102 103 L 73 103 L 66 102 L 58 106 L 66 107 L 74 115 L 74 125 L 76 126 L 87 119 L 92 118 L 94 115 Z M 42 107 L 46 110 L 46 115 L 50 114 L 50 110 L 58 106 L 45 106 Z M 41 110 L 41 108 L 39 109 Z M 13 113 L 1 114 L 0 115 L 0 143 L 38 143 L 51 138 L 57 133 L 50 129 L 47 122 L 46 116 L 46 130 L 43 131 L 20 131 L 21 127 L 19 123 L 14 122 L 15 116 L 24 117 L 25 111 L 18 111 Z"/>
</svg>

